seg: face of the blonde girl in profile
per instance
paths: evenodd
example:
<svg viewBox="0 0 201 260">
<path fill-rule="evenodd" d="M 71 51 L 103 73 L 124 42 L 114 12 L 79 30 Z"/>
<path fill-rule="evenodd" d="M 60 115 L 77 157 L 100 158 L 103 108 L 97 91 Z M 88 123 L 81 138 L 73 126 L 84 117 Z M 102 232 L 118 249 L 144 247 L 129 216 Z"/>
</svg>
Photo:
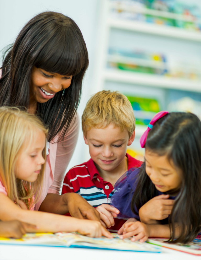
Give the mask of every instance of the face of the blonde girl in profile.
<svg viewBox="0 0 201 260">
<path fill-rule="evenodd" d="M 16 163 L 15 177 L 29 182 L 36 181 L 45 160 L 42 156 L 45 147 L 45 134 L 41 130 L 36 130 L 35 137 L 27 147 L 24 144 Z"/>
</svg>

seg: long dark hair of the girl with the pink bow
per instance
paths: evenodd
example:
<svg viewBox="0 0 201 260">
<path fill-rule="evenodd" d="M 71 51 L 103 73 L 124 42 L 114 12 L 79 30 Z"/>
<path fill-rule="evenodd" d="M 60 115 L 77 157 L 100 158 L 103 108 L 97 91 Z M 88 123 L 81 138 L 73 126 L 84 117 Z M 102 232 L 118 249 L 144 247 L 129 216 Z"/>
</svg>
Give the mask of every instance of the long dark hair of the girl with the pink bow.
<svg viewBox="0 0 201 260">
<path fill-rule="evenodd" d="M 201 122 L 192 113 L 169 113 L 160 118 L 149 131 L 145 148 L 153 153 L 167 155 L 182 172 L 182 185 L 175 200 L 169 225 L 169 242 L 188 243 L 201 231 Z M 157 196 L 143 165 L 132 198 L 132 211 Z M 136 208 L 135 208 L 136 207 Z M 180 236 L 175 239 L 175 224 Z"/>
</svg>

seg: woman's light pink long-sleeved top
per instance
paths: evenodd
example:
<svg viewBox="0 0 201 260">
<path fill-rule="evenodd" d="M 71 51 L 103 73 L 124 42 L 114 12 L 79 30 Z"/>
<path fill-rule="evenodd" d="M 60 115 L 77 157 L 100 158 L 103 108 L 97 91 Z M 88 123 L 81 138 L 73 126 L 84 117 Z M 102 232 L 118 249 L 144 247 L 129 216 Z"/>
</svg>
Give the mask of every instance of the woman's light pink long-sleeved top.
<svg viewBox="0 0 201 260">
<path fill-rule="evenodd" d="M 48 193 L 59 194 L 66 168 L 70 162 L 72 154 L 75 150 L 79 132 L 78 116 L 72 120 L 69 130 L 65 134 L 64 142 L 57 143 L 59 135 L 57 135 L 49 148 L 46 148 L 46 167 L 44 172 L 43 186 L 40 200 L 36 203 L 34 210 L 40 208 L 41 203 Z M 48 145 L 47 145 L 48 146 Z"/>
</svg>

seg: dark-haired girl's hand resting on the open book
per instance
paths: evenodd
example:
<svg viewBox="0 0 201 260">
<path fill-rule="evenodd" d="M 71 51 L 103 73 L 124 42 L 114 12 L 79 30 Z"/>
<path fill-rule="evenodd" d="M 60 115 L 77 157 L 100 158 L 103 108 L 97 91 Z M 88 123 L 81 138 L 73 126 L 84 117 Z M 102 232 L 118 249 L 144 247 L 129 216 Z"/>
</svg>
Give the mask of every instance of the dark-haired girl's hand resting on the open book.
<svg viewBox="0 0 201 260">
<path fill-rule="evenodd" d="M 149 226 L 140 222 L 129 222 L 124 224 L 123 235 L 120 239 L 135 236 L 131 238 L 131 241 L 139 240 L 139 242 L 147 241 L 150 234 Z"/>
</svg>

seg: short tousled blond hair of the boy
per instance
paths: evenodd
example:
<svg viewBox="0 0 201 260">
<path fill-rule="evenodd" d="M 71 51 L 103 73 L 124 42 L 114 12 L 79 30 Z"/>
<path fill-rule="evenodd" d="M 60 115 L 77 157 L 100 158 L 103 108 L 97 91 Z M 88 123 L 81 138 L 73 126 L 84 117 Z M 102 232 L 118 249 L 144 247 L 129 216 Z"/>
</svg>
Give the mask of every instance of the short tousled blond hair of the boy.
<svg viewBox="0 0 201 260">
<path fill-rule="evenodd" d="M 87 131 L 92 127 L 105 128 L 110 123 L 126 129 L 129 138 L 135 130 L 135 116 L 131 103 L 126 96 L 118 91 L 100 91 L 87 102 L 82 114 L 82 131 L 86 137 Z"/>
</svg>

